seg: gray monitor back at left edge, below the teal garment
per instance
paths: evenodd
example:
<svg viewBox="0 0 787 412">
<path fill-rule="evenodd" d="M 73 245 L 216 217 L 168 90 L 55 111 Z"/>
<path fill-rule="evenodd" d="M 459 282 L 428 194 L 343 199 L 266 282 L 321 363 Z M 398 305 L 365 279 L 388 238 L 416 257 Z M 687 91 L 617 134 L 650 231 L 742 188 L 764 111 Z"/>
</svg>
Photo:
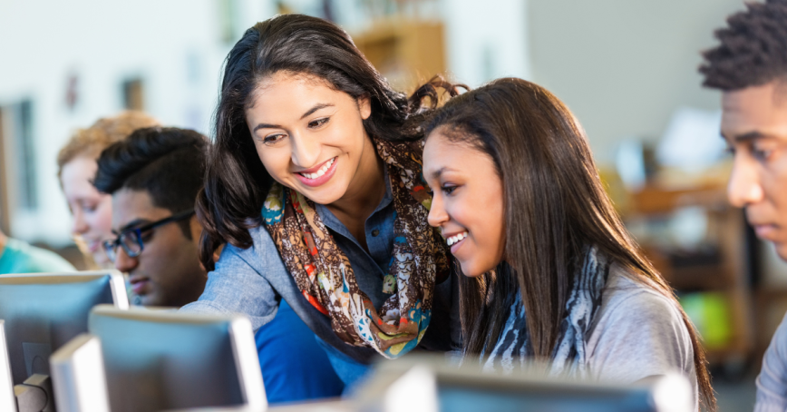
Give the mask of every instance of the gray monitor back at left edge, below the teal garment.
<svg viewBox="0 0 787 412">
<path fill-rule="evenodd" d="M 49 357 L 87 331 L 93 306 L 128 309 L 120 272 L 83 271 L 0 276 L 0 319 L 15 385 L 34 373 L 49 375 Z"/>
</svg>

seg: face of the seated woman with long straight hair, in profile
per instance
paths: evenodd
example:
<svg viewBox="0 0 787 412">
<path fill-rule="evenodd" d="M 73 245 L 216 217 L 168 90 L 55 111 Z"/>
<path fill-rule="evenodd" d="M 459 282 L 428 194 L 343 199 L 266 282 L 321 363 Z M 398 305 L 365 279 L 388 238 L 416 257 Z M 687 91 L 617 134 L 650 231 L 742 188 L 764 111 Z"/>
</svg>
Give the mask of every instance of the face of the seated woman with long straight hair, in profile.
<svg viewBox="0 0 787 412">
<path fill-rule="evenodd" d="M 503 186 L 491 157 L 438 128 L 423 148 L 423 177 L 434 192 L 429 224 L 440 228 L 462 273 L 494 269 L 506 239 Z"/>
</svg>

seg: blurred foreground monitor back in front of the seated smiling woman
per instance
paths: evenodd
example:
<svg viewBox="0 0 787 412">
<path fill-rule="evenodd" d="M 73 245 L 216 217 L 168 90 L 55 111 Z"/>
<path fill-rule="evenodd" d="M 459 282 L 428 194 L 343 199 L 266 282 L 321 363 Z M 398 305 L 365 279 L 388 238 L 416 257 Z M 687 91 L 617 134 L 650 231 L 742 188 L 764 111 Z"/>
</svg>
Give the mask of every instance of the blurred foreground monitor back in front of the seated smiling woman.
<svg viewBox="0 0 787 412">
<path fill-rule="evenodd" d="M 423 410 L 518 412 L 684 412 L 693 409 L 691 387 L 681 376 L 667 375 L 632 385 L 552 378 L 530 372 L 501 375 L 482 372 L 477 362 L 457 367 L 442 356 L 411 354 L 381 362 L 358 391 L 363 410 L 407 412 L 413 398 Z M 407 397 L 402 397 L 407 393 Z"/>
</svg>

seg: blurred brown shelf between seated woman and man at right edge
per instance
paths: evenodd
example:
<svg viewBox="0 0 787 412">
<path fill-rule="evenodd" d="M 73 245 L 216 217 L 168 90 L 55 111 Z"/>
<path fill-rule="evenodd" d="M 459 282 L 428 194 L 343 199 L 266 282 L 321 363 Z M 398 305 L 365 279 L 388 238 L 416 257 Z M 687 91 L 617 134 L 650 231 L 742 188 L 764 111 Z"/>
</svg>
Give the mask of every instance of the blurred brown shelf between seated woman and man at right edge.
<svg viewBox="0 0 787 412">
<path fill-rule="evenodd" d="M 741 368 L 752 359 L 750 248 L 743 211 L 727 203 L 724 185 L 648 184 L 630 193 L 623 216 L 695 323 L 708 361 Z"/>
</svg>

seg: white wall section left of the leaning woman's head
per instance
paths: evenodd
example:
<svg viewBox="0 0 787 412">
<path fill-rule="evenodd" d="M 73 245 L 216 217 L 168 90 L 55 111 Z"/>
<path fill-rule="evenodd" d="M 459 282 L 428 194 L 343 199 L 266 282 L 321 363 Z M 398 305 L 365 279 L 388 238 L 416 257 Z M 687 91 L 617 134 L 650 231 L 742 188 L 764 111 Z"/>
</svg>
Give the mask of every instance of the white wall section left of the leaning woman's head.
<svg viewBox="0 0 787 412">
<path fill-rule="evenodd" d="M 231 0 L 242 30 L 273 14 L 267 2 Z M 209 132 L 219 71 L 219 0 L 0 0 L 0 105 L 34 101 L 39 207 L 13 214 L 25 240 L 69 241 L 70 216 L 55 179 L 70 133 L 122 109 L 121 82 L 141 76 L 145 108 L 161 122 Z M 65 104 L 70 74 L 79 103 Z M 10 153 L 14 154 L 14 153 Z"/>
</svg>

